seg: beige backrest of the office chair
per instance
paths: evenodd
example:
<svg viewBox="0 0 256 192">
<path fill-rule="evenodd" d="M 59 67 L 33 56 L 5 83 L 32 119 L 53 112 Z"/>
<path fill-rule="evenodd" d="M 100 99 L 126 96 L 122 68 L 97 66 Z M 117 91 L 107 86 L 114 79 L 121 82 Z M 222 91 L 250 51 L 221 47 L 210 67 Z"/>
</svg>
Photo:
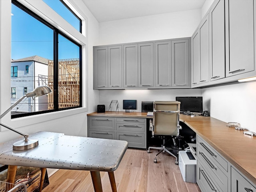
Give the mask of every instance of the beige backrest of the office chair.
<svg viewBox="0 0 256 192">
<path fill-rule="evenodd" d="M 180 102 L 155 101 L 152 135 L 179 134 Z"/>
</svg>

